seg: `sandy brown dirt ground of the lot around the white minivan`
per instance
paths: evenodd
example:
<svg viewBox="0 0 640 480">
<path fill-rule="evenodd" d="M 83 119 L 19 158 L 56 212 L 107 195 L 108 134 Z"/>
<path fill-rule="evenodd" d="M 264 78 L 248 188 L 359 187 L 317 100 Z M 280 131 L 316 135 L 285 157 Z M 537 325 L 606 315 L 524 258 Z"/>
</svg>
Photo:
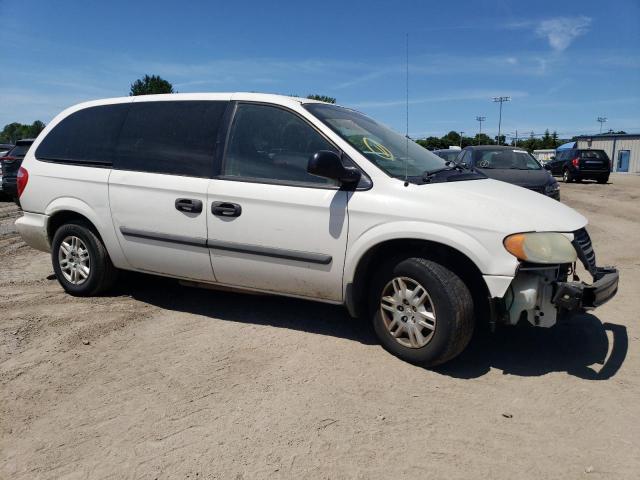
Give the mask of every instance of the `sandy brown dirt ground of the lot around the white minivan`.
<svg viewBox="0 0 640 480">
<path fill-rule="evenodd" d="M 70 297 L 0 203 L 0 478 L 638 478 L 640 177 L 562 196 L 618 296 L 437 371 L 338 307 L 141 275 Z"/>
</svg>

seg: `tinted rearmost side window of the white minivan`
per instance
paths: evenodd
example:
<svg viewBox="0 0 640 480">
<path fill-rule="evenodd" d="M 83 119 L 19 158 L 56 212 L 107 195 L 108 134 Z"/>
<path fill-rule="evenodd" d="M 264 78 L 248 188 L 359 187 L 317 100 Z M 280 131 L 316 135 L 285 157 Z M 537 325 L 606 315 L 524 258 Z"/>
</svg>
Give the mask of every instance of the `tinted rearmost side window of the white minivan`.
<svg viewBox="0 0 640 480">
<path fill-rule="evenodd" d="M 128 103 L 89 107 L 58 123 L 40 142 L 36 158 L 60 163 L 113 164 Z"/>
</svg>

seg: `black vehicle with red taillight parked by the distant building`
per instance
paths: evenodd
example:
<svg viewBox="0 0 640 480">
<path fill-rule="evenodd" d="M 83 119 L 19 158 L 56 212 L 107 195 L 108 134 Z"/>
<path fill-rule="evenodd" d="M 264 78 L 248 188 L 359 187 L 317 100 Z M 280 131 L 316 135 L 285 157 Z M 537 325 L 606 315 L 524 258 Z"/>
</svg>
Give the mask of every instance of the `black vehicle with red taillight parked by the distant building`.
<svg viewBox="0 0 640 480">
<path fill-rule="evenodd" d="M 553 175 L 562 176 L 566 183 L 588 179 L 607 183 L 611 172 L 611 161 L 604 150 L 559 150 L 547 165 Z"/>
</svg>

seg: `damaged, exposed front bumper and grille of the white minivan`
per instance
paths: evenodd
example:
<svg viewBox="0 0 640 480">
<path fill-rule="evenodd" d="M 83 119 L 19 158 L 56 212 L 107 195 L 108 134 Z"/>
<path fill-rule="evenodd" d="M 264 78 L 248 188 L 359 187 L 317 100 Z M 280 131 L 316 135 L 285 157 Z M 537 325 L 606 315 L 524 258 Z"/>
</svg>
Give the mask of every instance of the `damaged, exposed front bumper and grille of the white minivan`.
<svg viewBox="0 0 640 480">
<path fill-rule="evenodd" d="M 504 298 L 492 305 L 494 320 L 511 325 L 527 320 L 532 325 L 550 327 L 563 313 L 590 310 L 613 298 L 618 291 L 618 270 L 596 266 L 591 239 L 584 228 L 574 232 L 572 243 L 593 278 L 591 284 L 578 279 L 575 265 L 523 263 Z"/>
</svg>

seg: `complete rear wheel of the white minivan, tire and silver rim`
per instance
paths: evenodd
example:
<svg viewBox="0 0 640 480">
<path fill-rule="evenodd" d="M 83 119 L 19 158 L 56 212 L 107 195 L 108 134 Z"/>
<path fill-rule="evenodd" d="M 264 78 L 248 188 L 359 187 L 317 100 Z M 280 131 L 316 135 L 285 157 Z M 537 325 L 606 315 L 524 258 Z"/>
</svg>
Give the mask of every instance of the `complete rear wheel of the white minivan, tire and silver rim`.
<svg viewBox="0 0 640 480">
<path fill-rule="evenodd" d="M 117 269 L 102 240 L 86 222 L 60 226 L 51 243 L 51 262 L 62 288 L 71 295 L 88 297 L 111 288 Z"/>
</svg>

